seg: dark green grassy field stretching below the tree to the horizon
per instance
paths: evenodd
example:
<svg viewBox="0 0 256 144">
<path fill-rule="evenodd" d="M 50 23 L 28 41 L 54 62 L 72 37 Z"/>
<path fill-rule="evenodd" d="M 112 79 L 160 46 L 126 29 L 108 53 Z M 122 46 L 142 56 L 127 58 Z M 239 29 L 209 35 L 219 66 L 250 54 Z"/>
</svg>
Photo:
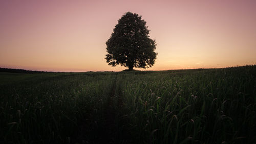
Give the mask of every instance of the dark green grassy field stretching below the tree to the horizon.
<svg viewBox="0 0 256 144">
<path fill-rule="evenodd" d="M 0 143 L 256 143 L 256 65 L 0 73 Z"/>
</svg>

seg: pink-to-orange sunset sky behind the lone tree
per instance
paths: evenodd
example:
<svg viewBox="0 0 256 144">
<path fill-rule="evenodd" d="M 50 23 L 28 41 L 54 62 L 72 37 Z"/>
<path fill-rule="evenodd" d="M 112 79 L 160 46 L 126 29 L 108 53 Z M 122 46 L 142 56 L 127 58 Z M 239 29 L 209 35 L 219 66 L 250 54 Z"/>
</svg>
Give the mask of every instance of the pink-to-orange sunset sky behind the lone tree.
<svg viewBox="0 0 256 144">
<path fill-rule="evenodd" d="M 105 42 L 126 12 L 142 16 L 158 53 L 138 70 L 256 64 L 256 1 L 0 1 L 0 67 L 120 71 Z"/>
</svg>

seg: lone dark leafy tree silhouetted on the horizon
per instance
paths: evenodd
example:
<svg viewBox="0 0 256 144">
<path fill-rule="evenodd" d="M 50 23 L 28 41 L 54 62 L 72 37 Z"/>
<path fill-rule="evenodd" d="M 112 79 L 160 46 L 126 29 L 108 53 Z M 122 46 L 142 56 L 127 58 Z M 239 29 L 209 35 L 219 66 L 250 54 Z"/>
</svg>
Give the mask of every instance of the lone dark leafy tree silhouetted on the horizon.
<svg viewBox="0 0 256 144">
<path fill-rule="evenodd" d="M 146 21 L 136 13 L 127 12 L 115 26 L 113 33 L 106 41 L 106 62 L 111 66 L 148 68 L 155 63 L 156 41 L 148 35 Z"/>
</svg>

